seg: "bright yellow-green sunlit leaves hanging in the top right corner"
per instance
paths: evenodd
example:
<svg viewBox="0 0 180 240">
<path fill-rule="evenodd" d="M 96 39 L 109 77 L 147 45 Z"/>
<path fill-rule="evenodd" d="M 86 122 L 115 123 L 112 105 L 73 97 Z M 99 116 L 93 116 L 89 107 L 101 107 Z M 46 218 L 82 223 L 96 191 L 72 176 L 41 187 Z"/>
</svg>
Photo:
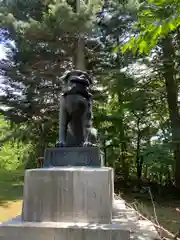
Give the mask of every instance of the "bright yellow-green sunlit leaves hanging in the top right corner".
<svg viewBox="0 0 180 240">
<path fill-rule="evenodd" d="M 138 31 L 122 47 L 122 52 L 149 54 L 159 40 L 180 26 L 180 3 L 174 0 L 147 0 L 140 5 L 138 22 L 133 28 Z"/>
</svg>

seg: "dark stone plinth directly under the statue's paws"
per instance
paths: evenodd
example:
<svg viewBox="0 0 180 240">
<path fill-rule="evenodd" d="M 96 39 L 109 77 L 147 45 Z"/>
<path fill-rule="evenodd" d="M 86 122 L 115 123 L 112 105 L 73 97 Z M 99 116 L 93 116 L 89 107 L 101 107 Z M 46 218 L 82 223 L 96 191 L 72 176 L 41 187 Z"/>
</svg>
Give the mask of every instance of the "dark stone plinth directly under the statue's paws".
<svg viewBox="0 0 180 240">
<path fill-rule="evenodd" d="M 98 147 L 48 148 L 45 151 L 44 167 L 52 166 L 103 166 L 103 157 Z"/>
</svg>

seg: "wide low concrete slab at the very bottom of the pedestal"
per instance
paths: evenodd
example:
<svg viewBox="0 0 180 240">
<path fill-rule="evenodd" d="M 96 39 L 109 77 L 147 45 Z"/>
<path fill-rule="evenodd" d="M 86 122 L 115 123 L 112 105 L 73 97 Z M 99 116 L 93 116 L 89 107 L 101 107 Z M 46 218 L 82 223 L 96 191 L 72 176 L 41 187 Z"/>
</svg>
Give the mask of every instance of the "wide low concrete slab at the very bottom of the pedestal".
<svg viewBox="0 0 180 240">
<path fill-rule="evenodd" d="M 119 224 L 23 223 L 0 225 L 1 240 L 129 240 Z"/>
</svg>

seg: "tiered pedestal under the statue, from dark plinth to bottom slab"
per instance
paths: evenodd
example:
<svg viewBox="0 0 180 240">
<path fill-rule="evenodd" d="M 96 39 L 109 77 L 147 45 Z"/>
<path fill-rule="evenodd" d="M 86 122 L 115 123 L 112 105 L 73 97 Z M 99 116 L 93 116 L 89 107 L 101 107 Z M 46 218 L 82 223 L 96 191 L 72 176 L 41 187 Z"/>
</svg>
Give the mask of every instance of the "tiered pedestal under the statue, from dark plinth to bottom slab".
<svg viewBox="0 0 180 240">
<path fill-rule="evenodd" d="M 100 167 L 99 150 L 53 151 L 46 152 L 47 168 L 26 171 L 22 216 L 0 225 L 0 240 L 129 240 L 130 231 L 112 219 L 113 169 Z M 89 160 L 72 166 L 90 156 L 99 167 Z M 63 161 L 71 166 L 51 167 Z"/>
</svg>

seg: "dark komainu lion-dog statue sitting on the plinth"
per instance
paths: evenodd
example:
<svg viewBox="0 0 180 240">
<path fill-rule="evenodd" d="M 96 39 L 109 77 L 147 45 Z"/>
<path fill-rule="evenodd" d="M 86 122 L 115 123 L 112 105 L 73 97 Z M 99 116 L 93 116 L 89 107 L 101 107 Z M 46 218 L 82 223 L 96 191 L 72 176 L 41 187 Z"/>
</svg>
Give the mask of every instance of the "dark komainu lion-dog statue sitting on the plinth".
<svg viewBox="0 0 180 240">
<path fill-rule="evenodd" d="M 96 146 L 97 131 L 92 126 L 91 77 L 84 71 L 68 72 L 67 89 L 60 99 L 59 142 L 56 147 Z"/>
</svg>

